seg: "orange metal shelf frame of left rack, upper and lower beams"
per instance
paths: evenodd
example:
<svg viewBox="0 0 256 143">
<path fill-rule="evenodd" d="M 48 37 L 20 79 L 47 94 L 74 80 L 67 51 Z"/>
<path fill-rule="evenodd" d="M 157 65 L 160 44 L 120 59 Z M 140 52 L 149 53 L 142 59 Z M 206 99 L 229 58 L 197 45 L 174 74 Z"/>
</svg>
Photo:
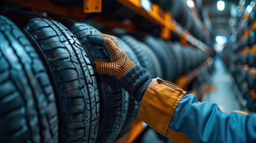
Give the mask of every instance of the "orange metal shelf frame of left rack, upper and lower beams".
<svg viewBox="0 0 256 143">
<path fill-rule="evenodd" d="M 44 0 L 44 1 L 33 1 L 33 0 L 5 0 L 7 2 L 13 2 L 15 4 L 20 4 L 26 7 L 32 8 L 32 11 L 34 13 L 42 14 L 44 12 L 60 15 L 63 17 L 68 18 L 74 18 L 77 20 L 84 19 L 88 16 L 90 16 L 89 13 L 100 13 L 101 11 L 101 0 L 84 0 L 84 6 L 83 7 L 64 7 L 57 4 L 54 4 L 50 0 Z M 175 21 L 171 17 L 171 13 L 163 11 L 158 5 L 151 4 L 149 1 L 147 1 L 147 4 L 144 4 L 141 2 L 142 0 L 116 0 L 120 2 L 121 4 L 131 8 L 131 10 L 134 10 L 138 14 L 142 15 L 143 17 L 147 18 L 149 21 L 152 21 L 152 23 L 156 24 L 156 26 L 159 26 L 161 28 L 161 38 L 162 39 L 170 39 L 171 38 L 171 32 L 175 35 L 179 36 L 181 38 L 180 42 L 183 45 L 186 45 L 187 43 L 201 49 L 206 54 L 214 54 L 214 51 L 209 48 L 205 43 L 200 41 L 199 39 L 195 38 L 190 32 L 188 32 L 184 27 L 182 27 L 177 21 Z M 146 1 L 146 0 L 144 0 Z M 144 4 L 144 5 L 142 5 Z M 96 17 L 97 18 L 97 17 Z M 103 17 L 98 17 L 98 19 L 103 19 Z M 124 24 L 115 23 L 114 21 L 106 20 L 107 22 L 110 22 L 109 25 L 114 25 L 117 27 L 125 26 Z M 105 22 L 106 22 L 105 21 Z M 130 30 L 134 30 L 135 26 L 132 24 L 127 24 Z M 204 64 L 205 67 L 209 66 L 207 64 L 209 62 L 208 60 Z M 198 75 L 200 72 L 199 69 L 193 70 L 191 73 L 189 73 L 187 76 L 180 77 L 180 81 L 183 78 L 183 80 L 180 83 L 181 87 L 184 89 L 186 86 L 192 82 L 193 79 Z M 135 138 L 137 138 L 138 135 L 145 129 L 145 126 L 143 125 L 143 122 L 140 120 L 135 120 L 135 122 L 132 124 L 131 129 L 125 134 L 125 136 L 120 139 L 117 142 L 132 142 Z"/>
</svg>

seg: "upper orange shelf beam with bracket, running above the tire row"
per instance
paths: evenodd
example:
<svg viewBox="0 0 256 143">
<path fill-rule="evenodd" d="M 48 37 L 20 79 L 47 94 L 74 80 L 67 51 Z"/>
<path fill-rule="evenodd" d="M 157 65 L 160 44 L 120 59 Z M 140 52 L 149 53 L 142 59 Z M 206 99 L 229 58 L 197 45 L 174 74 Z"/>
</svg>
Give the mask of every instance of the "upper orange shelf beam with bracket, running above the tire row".
<svg viewBox="0 0 256 143">
<path fill-rule="evenodd" d="M 101 0 L 92 1 L 84 0 L 84 7 L 64 7 L 54 4 L 50 0 L 45 1 L 33 1 L 33 0 L 5 0 L 7 2 L 13 2 L 16 4 L 31 7 L 34 13 L 42 14 L 48 12 L 52 14 L 61 15 L 63 17 L 84 19 L 88 17 L 89 13 L 99 13 L 101 11 Z M 164 12 L 158 5 L 151 4 L 147 0 L 116 0 L 121 4 L 127 6 L 136 13 L 142 15 L 156 26 L 161 27 L 161 38 L 170 39 L 171 32 L 175 33 L 181 38 L 181 43 L 184 45 L 190 43 L 197 48 L 201 49 L 206 54 L 214 54 L 214 51 L 209 48 L 205 43 L 199 41 L 192 36 L 184 27 L 177 23 L 172 17 L 171 13 Z M 98 5 L 98 6 L 97 6 Z M 95 8 L 97 7 L 97 8 Z M 91 10 L 91 11 L 90 11 Z"/>
</svg>

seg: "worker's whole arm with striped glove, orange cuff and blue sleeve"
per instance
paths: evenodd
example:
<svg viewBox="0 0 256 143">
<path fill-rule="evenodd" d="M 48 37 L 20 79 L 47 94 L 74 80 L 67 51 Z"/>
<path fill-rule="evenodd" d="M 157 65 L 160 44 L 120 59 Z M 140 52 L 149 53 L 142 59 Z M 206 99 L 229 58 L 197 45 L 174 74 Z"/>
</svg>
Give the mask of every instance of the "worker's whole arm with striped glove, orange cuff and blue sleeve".
<svg viewBox="0 0 256 143">
<path fill-rule="evenodd" d="M 88 35 L 92 46 L 109 52 L 111 61 L 95 61 L 106 74 L 141 101 L 138 118 L 174 142 L 256 142 L 255 116 L 224 113 L 217 104 L 198 103 L 171 82 L 150 79 L 113 36 Z"/>
</svg>

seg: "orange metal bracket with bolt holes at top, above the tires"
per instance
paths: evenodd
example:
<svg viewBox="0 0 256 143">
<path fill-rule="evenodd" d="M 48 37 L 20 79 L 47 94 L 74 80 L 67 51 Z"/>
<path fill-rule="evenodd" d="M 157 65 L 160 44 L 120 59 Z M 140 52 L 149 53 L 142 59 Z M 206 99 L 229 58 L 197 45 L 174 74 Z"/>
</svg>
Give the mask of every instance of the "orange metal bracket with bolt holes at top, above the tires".
<svg viewBox="0 0 256 143">
<path fill-rule="evenodd" d="M 84 13 L 100 13 L 101 0 L 84 0 Z"/>
</svg>

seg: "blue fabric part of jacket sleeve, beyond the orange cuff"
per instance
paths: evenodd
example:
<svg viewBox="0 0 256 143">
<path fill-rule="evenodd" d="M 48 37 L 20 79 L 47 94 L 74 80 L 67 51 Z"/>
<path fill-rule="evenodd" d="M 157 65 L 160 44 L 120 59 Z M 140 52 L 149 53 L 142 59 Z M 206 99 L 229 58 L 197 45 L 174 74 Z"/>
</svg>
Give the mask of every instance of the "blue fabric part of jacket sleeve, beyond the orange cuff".
<svg viewBox="0 0 256 143">
<path fill-rule="evenodd" d="M 169 128 L 193 142 L 256 142 L 255 114 L 224 113 L 217 104 L 198 103 L 192 94 L 181 98 Z"/>
</svg>

